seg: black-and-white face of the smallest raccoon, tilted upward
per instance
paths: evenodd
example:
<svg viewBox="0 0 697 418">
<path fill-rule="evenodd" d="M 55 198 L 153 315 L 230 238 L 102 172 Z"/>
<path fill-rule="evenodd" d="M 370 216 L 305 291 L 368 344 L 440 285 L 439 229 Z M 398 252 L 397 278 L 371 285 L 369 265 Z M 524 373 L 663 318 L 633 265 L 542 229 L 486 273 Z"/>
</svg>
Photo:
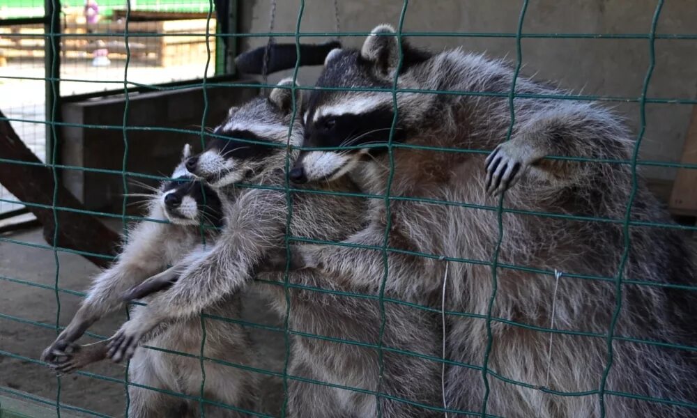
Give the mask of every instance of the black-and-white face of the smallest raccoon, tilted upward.
<svg viewBox="0 0 697 418">
<path fill-rule="evenodd" d="M 201 222 L 222 226 L 222 202 L 215 190 L 194 180 L 185 169 L 185 162 L 191 157 L 189 144 L 184 146 L 182 161 L 178 164 L 172 179 L 160 185 L 157 200 L 164 216 L 169 222 L 178 225 L 198 225 Z"/>
</svg>

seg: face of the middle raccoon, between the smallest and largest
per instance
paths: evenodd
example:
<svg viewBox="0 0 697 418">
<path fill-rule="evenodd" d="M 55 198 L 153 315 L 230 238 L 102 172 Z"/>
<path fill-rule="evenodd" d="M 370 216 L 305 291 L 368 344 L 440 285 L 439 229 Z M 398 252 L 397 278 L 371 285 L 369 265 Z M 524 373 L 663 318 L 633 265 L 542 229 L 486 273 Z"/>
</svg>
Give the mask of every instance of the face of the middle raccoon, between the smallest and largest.
<svg viewBox="0 0 697 418">
<path fill-rule="evenodd" d="M 291 85 L 292 80 L 285 79 L 268 99 L 256 98 L 230 109 L 224 123 L 213 131 L 217 137 L 208 141 L 203 153 L 186 160 L 186 170 L 219 188 L 250 179 L 270 164 L 276 165 L 276 160 L 286 154 L 293 104 Z M 296 100 L 299 107 L 300 98 Z M 300 145 L 298 129 L 293 127 L 293 132 L 291 144 Z"/>
</svg>

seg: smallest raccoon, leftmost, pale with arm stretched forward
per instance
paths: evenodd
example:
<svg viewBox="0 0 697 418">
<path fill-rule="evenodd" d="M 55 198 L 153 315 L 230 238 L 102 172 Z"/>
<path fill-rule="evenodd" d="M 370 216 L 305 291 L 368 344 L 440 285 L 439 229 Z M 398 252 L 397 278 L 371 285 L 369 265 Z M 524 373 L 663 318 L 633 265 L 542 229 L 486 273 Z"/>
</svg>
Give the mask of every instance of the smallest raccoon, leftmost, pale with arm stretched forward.
<svg viewBox="0 0 697 418">
<path fill-rule="evenodd" d="M 185 146 L 183 161 L 190 157 Z M 148 219 L 130 231 L 129 240 L 118 261 L 94 279 L 93 286 L 56 341 L 45 350 L 42 358 L 52 362 L 54 369 L 69 373 L 107 357 L 107 341 L 77 346 L 75 341 L 95 321 L 116 309 L 123 308 L 122 293 L 153 274 L 181 260 L 201 243 L 201 222 L 206 224 L 204 238 L 212 244 L 215 228 L 222 226 L 224 199 L 217 193 L 194 181 L 183 166 L 183 161 L 172 174 L 174 180 L 164 181 L 158 192 L 151 196 Z M 132 315 L 144 307 L 135 306 Z M 240 298 L 227 297 L 224 303 L 206 309 L 206 314 L 238 318 Z M 249 337 L 240 326 L 221 320 L 206 320 L 206 357 L 224 359 L 238 364 L 252 365 Z M 201 350 L 201 320 L 184 318 L 155 330 L 147 336 L 151 346 L 199 355 Z M 140 350 L 128 369 L 129 380 L 138 385 L 167 389 L 189 396 L 201 393 L 201 364 L 199 359 L 167 354 L 159 350 Z M 256 376 L 247 371 L 222 364 L 206 362 L 205 396 L 210 401 L 253 409 L 257 392 Z M 153 389 L 129 386 L 129 415 L 135 417 L 195 416 L 199 405 L 195 401 L 173 402 L 172 398 Z M 206 416 L 242 417 L 233 410 L 204 405 Z"/>
</svg>

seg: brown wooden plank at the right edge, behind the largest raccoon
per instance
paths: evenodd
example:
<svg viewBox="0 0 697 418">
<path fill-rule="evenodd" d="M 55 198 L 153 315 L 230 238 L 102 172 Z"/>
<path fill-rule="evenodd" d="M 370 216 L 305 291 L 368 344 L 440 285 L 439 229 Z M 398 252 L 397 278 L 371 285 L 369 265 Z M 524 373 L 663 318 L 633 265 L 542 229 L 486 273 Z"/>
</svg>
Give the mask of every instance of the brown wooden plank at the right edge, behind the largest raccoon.
<svg viewBox="0 0 697 418">
<path fill-rule="evenodd" d="M 692 107 L 692 118 L 682 148 L 682 164 L 697 164 L 697 106 Z M 697 215 L 697 169 L 678 169 L 668 209 Z"/>
</svg>

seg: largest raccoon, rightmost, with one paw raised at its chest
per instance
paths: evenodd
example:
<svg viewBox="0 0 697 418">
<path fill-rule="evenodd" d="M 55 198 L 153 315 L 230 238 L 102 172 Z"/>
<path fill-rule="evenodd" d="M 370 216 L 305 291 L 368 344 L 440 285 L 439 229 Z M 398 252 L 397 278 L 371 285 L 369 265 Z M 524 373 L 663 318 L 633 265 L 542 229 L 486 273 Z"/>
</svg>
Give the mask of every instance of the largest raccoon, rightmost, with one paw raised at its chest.
<svg viewBox="0 0 697 418">
<path fill-rule="evenodd" d="M 335 49 L 328 55 L 317 85 L 334 89 L 312 93 L 304 115 L 304 146 L 353 149 L 303 151 L 290 173 L 292 180 L 332 180 L 360 172 L 367 179 L 360 187 L 382 195 L 393 168 L 390 247 L 485 263 L 491 261 L 497 247 L 498 218 L 496 211 L 477 206 L 498 206 L 498 198 L 492 195 L 504 191 L 504 207 L 508 209 L 625 218 L 633 188 L 629 166 L 543 159 L 557 155 L 629 160 L 633 144 L 618 117 L 595 103 L 515 98 L 516 123 L 510 141 L 504 142 L 511 123 L 507 100 L 514 74 L 511 68 L 461 49 L 431 54 L 406 42 L 402 42 L 400 54 L 394 35 L 390 26 L 378 26 L 362 49 Z M 398 119 L 391 138 L 396 146 L 391 161 L 385 143 L 395 116 L 389 91 L 395 76 L 400 89 L 501 94 L 397 93 Z M 360 87 L 362 91 L 337 87 Z M 365 91 L 376 87 L 388 91 Z M 516 93 L 565 94 L 525 77 L 516 79 Z M 442 148 L 480 153 L 445 153 Z M 481 151 L 494 148 L 485 160 Z M 404 196 L 429 201 L 399 199 Z M 374 201 L 367 229 L 346 242 L 381 245 L 388 224 L 385 213 L 384 201 Z M 489 343 L 484 318 L 493 291 L 491 267 L 476 262 L 448 263 L 446 309 L 473 315 L 450 316 L 447 324 L 447 357 L 457 362 L 447 371 L 447 406 L 477 414 L 486 410 L 505 417 L 552 418 L 597 417 L 604 403 L 606 415 L 612 417 L 694 416 L 694 408 L 680 405 L 697 401 L 694 353 L 651 342 L 697 345 L 690 323 L 696 314 L 695 294 L 663 286 L 695 285 L 694 261 L 682 235 L 669 227 L 629 226 L 631 247 L 622 277 L 645 284 L 623 284 L 620 295 L 614 279 L 625 249 L 620 222 L 512 212 L 504 212 L 501 220 L 504 233 L 496 270 L 498 291 L 491 309 L 493 343 L 486 405 L 480 369 Z M 671 224 L 641 178 L 631 220 Z M 293 251 L 296 268 L 313 268 L 372 288 L 380 285 L 383 268 L 379 253 L 312 245 L 298 245 Z M 446 266 L 433 256 L 422 258 L 404 251 L 390 254 L 388 291 L 401 293 L 406 300 L 438 292 Z M 510 265 L 533 270 L 514 270 Z M 562 275 L 555 293 L 554 276 L 537 274 L 537 269 L 610 279 Z M 608 367 L 606 334 L 618 298 L 622 309 L 615 336 L 622 338 L 612 343 L 613 363 L 604 386 L 611 393 L 599 396 Z M 569 333 L 550 336 L 534 329 L 549 328 L 553 310 L 553 327 Z"/>
</svg>

